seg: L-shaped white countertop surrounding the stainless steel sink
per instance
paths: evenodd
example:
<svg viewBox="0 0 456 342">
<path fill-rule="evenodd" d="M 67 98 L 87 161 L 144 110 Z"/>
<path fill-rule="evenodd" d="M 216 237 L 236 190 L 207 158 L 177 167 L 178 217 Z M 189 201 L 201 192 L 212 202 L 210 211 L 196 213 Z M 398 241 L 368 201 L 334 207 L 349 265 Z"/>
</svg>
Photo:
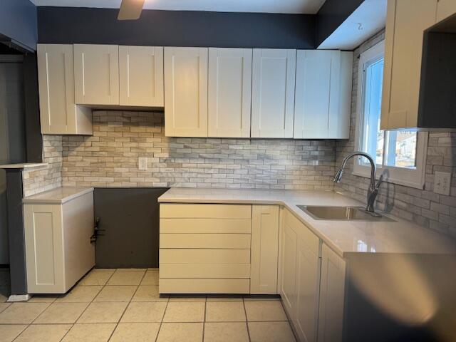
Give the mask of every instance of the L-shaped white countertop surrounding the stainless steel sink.
<svg viewBox="0 0 456 342">
<path fill-rule="evenodd" d="M 313 219 L 297 207 L 363 207 L 360 202 L 336 192 L 172 188 L 158 202 L 284 205 L 341 257 L 359 253 L 456 254 L 456 239 L 389 214 L 386 216 L 395 222 L 325 221 Z"/>
</svg>

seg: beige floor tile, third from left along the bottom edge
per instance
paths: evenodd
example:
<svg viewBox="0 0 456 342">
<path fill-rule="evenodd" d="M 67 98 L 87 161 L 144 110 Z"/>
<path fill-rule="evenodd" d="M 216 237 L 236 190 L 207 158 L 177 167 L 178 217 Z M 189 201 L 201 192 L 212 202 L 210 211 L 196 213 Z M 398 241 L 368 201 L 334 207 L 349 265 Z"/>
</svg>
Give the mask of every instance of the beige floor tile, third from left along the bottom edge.
<svg viewBox="0 0 456 342">
<path fill-rule="evenodd" d="M 63 342 L 105 342 L 108 341 L 113 333 L 115 324 L 113 323 L 93 323 L 75 324 L 68 331 Z M 129 341 L 129 340 L 126 340 Z M 131 340 L 130 340 L 131 341 Z"/>
</svg>

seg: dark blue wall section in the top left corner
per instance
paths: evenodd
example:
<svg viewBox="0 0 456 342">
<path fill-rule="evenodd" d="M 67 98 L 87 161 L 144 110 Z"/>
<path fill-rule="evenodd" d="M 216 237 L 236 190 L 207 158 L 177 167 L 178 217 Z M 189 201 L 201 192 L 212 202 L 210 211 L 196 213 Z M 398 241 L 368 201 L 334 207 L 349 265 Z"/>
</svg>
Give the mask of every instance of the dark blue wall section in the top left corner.
<svg viewBox="0 0 456 342">
<path fill-rule="evenodd" d="M 30 0 L 0 1 L 0 33 L 36 49 L 36 7 Z"/>
</svg>

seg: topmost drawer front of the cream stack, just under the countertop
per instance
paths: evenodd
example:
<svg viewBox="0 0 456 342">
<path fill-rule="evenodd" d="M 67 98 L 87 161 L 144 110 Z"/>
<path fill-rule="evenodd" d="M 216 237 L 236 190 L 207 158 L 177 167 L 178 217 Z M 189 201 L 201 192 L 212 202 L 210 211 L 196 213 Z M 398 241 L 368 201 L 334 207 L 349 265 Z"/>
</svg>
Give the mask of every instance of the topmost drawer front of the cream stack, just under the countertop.
<svg viewBox="0 0 456 342">
<path fill-rule="evenodd" d="M 160 218 L 250 219 L 252 205 L 160 204 Z"/>
</svg>

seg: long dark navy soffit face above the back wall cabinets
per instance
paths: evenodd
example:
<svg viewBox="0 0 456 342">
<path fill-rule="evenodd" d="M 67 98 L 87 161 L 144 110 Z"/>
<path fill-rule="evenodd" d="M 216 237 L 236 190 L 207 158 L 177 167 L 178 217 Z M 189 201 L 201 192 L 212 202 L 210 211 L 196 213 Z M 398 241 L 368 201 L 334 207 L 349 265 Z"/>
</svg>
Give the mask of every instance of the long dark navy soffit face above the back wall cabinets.
<svg viewBox="0 0 456 342">
<path fill-rule="evenodd" d="M 315 15 L 38 7 L 39 43 L 315 48 Z"/>
</svg>

